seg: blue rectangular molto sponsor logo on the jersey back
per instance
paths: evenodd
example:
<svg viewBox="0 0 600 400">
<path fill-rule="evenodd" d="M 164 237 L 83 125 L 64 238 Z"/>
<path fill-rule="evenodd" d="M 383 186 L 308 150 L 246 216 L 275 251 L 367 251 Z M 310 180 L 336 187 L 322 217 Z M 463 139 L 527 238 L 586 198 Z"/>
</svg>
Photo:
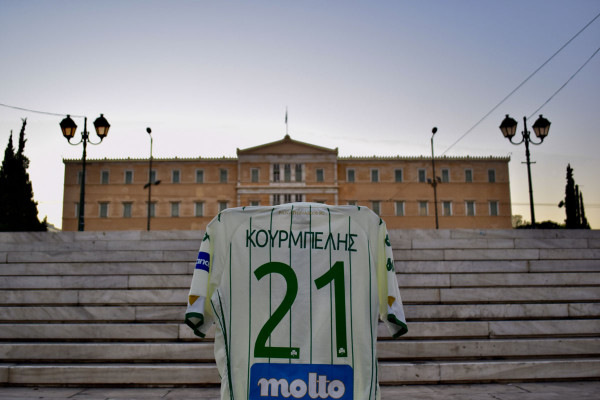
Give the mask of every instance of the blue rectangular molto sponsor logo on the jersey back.
<svg viewBox="0 0 600 400">
<path fill-rule="evenodd" d="M 250 369 L 250 399 L 353 398 L 353 373 L 349 365 L 266 364 Z"/>
</svg>

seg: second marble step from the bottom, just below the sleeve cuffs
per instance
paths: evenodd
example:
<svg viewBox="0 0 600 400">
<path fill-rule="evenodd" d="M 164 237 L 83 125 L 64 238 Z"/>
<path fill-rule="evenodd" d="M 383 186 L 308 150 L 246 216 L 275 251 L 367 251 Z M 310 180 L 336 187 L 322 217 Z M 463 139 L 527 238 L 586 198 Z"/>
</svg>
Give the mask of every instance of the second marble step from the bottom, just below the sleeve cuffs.
<svg viewBox="0 0 600 400">
<path fill-rule="evenodd" d="M 383 360 L 600 356 L 599 338 L 379 341 Z M 214 362 L 212 342 L 0 343 L 4 362 Z"/>
</svg>

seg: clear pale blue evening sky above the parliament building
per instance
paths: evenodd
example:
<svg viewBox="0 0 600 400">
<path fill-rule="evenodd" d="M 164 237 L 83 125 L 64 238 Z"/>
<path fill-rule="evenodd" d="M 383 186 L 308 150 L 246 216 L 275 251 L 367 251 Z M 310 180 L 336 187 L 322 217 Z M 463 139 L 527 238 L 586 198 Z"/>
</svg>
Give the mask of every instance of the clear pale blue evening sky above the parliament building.
<svg viewBox="0 0 600 400">
<path fill-rule="evenodd" d="M 600 47 L 600 18 L 495 106 L 599 13 L 598 0 L 0 0 L 0 157 L 27 118 L 39 217 L 60 227 L 63 159 L 82 154 L 61 115 L 110 122 L 88 159 L 147 158 L 146 127 L 154 157 L 235 157 L 283 138 L 286 109 L 293 139 L 340 156 L 430 156 L 436 126 L 436 155 L 510 156 L 512 212 L 530 220 L 525 146 L 498 126 L 510 114 L 517 138 L 524 116 L 531 130 Z M 599 72 L 597 55 L 538 112 L 552 123 L 530 148 L 538 222 L 564 221 L 570 163 L 600 228 Z"/>
</svg>

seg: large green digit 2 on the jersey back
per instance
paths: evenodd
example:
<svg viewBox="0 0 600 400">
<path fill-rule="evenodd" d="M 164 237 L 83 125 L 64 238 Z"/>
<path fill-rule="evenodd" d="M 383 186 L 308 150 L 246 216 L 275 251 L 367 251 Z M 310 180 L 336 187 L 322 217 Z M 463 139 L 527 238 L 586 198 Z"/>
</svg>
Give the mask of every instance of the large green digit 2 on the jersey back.
<svg viewBox="0 0 600 400">
<path fill-rule="evenodd" d="M 258 280 L 261 280 L 268 274 L 281 275 L 285 279 L 287 289 L 281 304 L 263 325 L 256 337 L 254 357 L 300 358 L 300 349 L 298 347 L 268 347 L 266 345 L 269 336 L 271 336 L 288 311 L 292 309 L 292 304 L 294 304 L 294 300 L 296 300 L 296 295 L 298 294 L 298 278 L 296 278 L 296 273 L 292 267 L 281 262 L 268 262 L 254 271 L 254 275 L 256 275 L 256 279 Z"/>
</svg>

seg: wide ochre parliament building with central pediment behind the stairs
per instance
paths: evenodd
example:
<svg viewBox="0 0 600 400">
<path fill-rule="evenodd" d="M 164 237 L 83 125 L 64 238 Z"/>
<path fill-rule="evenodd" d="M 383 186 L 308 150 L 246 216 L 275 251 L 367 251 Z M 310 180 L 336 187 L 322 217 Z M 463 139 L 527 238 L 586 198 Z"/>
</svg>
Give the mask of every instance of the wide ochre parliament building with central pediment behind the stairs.
<svg viewBox="0 0 600 400">
<path fill-rule="evenodd" d="M 508 157 L 436 157 L 439 228 L 510 229 Z M 81 160 L 64 160 L 62 229 L 77 230 Z M 88 160 L 85 230 L 202 230 L 228 207 L 307 201 L 367 206 L 389 229 L 434 229 L 431 157 L 339 157 L 282 140 L 235 158 Z M 149 178 L 152 185 L 148 204 Z M 147 185 L 146 185 L 147 186 Z"/>
</svg>

